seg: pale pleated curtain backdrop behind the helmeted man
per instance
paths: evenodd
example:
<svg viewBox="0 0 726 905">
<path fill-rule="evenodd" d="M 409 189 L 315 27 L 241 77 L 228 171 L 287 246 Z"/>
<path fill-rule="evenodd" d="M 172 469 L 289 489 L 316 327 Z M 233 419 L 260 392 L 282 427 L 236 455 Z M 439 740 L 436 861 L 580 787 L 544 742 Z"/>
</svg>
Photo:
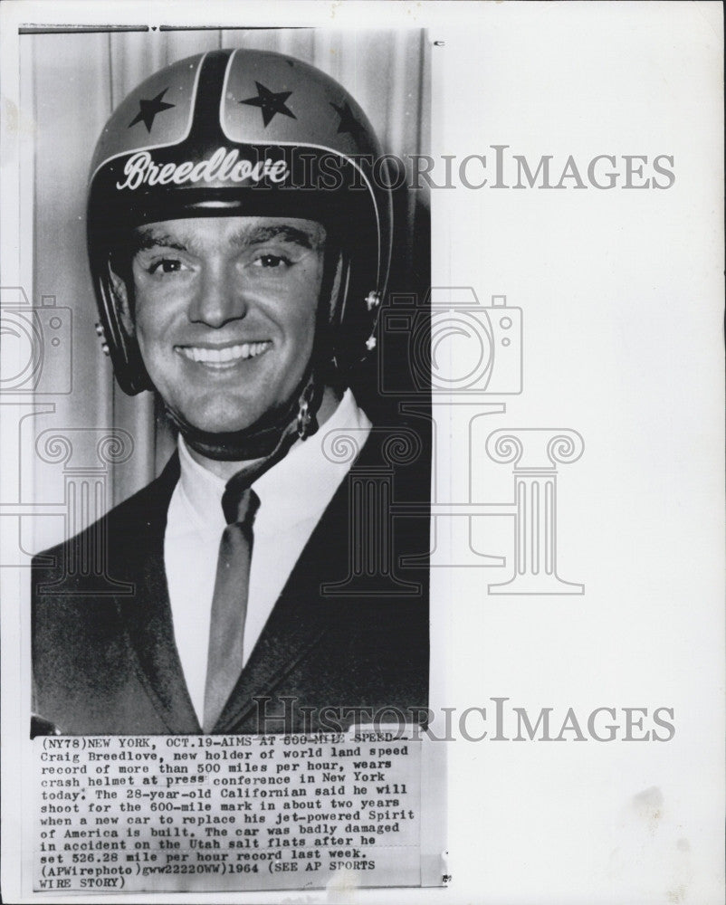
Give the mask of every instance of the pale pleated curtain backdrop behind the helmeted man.
<svg viewBox="0 0 726 905">
<path fill-rule="evenodd" d="M 148 33 L 28 34 L 21 44 L 23 106 L 32 110 L 33 300 L 55 296 L 72 309 L 72 393 L 34 429 L 116 426 L 133 455 L 112 466 L 104 506 L 148 483 L 173 438 L 153 395 L 133 398 L 115 385 L 101 354 L 85 250 L 85 194 L 91 155 L 106 119 L 139 81 L 170 62 L 220 47 L 289 53 L 340 81 L 368 114 L 384 149 L 407 159 L 428 150 L 428 44 L 410 31 L 333 32 L 312 28 Z M 421 191 L 396 193 L 395 266 L 389 289 L 425 291 L 428 211 Z M 158 407 L 158 406 L 157 406 Z"/>
</svg>

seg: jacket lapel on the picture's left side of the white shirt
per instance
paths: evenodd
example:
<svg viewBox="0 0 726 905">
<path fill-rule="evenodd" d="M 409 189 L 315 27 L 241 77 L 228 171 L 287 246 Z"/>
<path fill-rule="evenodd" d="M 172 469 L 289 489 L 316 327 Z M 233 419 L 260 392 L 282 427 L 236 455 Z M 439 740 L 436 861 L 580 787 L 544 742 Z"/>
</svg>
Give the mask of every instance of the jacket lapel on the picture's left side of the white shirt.
<svg viewBox="0 0 726 905">
<path fill-rule="evenodd" d="M 129 575 L 136 586 L 134 595 L 118 597 L 116 604 L 139 680 L 169 732 L 196 734 L 201 727 L 177 653 L 164 568 L 167 510 L 178 476 L 175 453 L 157 481 L 135 500 L 142 518 L 134 524 L 142 529 L 122 535 L 124 542 L 112 555 L 119 560 L 119 574 Z"/>
</svg>

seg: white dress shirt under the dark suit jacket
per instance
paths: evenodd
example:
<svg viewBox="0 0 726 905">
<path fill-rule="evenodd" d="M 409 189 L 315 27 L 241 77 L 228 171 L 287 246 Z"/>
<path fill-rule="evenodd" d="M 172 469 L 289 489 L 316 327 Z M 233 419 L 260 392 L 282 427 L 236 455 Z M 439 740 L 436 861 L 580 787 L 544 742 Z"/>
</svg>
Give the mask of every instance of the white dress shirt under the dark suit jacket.
<svg viewBox="0 0 726 905">
<path fill-rule="evenodd" d="M 254 519 L 253 557 L 244 623 L 244 662 L 249 659 L 292 567 L 320 516 L 350 469 L 322 452 L 330 431 L 353 430 L 359 445 L 371 424 L 347 390 L 328 421 L 253 483 L 260 498 Z M 360 433 L 362 432 L 362 433 Z M 174 635 L 186 687 L 201 722 L 204 716 L 206 656 L 219 542 L 226 527 L 222 494 L 226 481 L 190 455 L 179 437 L 181 476 L 169 503 L 164 566 Z"/>
</svg>

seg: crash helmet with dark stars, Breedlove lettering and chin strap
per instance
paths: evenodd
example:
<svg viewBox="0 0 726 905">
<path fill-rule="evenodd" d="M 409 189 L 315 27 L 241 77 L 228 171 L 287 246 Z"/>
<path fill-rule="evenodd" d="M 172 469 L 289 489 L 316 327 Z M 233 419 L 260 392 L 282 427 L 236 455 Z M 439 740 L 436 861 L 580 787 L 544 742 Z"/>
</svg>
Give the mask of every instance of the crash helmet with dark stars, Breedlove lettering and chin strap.
<svg viewBox="0 0 726 905">
<path fill-rule="evenodd" d="M 317 220 L 342 268 L 335 281 L 323 281 L 328 297 L 320 300 L 313 355 L 289 409 L 239 436 L 210 437 L 178 424 L 187 441 L 225 459 L 270 454 L 291 425 L 304 436 L 314 424 L 320 373 L 334 363 L 344 381 L 375 345 L 391 246 L 390 191 L 373 178 L 381 154 L 349 92 L 280 53 L 197 54 L 131 91 L 96 146 L 87 211 L 98 330 L 119 386 L 129 395 L 153 388 L 112 275 L 135 227 L 225 215 Z M 119 271 L 132 306 L 130 266 Z"/>
</svg>

